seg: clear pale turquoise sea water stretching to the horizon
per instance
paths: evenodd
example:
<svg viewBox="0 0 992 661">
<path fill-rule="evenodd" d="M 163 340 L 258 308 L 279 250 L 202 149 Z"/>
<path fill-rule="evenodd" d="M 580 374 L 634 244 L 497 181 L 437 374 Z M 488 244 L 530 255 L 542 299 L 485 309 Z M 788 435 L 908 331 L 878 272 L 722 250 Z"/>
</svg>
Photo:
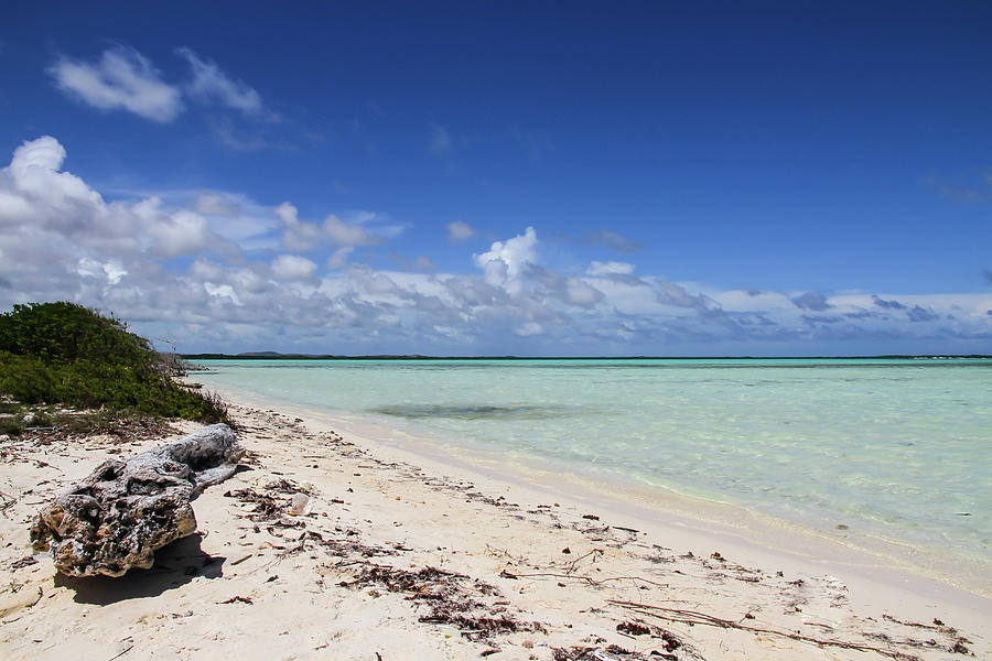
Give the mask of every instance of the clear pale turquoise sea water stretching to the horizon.
<svg viewBox="0 0 992 661">
<path fill-rule="evenodd" d="M 992 360 L 202 364 L 208 388 L 992 563 Z"/>
</svg>

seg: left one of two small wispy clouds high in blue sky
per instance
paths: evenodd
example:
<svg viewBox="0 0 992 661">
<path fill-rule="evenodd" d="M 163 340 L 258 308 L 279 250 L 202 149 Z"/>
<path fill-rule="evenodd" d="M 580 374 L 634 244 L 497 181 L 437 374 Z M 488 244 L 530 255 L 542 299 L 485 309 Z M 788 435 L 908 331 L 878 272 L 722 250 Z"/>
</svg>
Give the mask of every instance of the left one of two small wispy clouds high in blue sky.
<svg viewBox="0 0 992 661">
<path fill-rule="evenodd" d="M 163 123 L 183 111 L 179 88 L 164 83 L 152 64 L 128 46 L 105 51 L 97 64 L 62 58 L 48 74 L 64 93 L 101 110 L 127 110 Z"/>
</svg>

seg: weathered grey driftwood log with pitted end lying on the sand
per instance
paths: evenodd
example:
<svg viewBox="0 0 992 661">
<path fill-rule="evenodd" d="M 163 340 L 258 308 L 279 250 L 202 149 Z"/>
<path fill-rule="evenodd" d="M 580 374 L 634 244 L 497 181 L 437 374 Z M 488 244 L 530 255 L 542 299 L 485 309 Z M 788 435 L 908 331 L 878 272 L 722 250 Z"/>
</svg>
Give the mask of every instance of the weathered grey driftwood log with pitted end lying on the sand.
<svg viewBox="0 0 992 661">
<path fill-rule="evenodd" d="M 47 506 L 31 527 L 68 576 L 149 568 L 157 549 L 192 534 L 190 500 L 230 477 L 245 451 L 226 424 L 203 427 L 126 462 L 104 462 Z"/>
</svg>

